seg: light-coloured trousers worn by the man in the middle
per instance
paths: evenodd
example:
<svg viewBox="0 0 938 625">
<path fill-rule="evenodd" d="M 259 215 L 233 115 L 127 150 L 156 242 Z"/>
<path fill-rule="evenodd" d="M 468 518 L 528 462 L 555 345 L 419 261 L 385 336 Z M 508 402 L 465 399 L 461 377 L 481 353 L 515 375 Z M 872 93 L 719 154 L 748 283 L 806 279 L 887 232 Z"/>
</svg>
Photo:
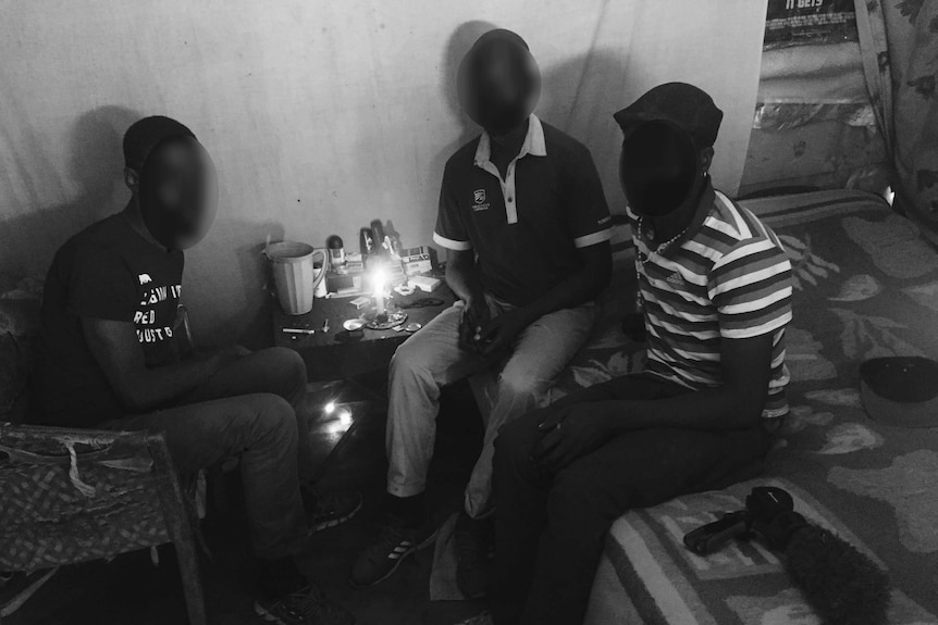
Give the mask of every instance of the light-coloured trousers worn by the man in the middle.
<svg viewBox="0 0 938 625">
<path fill-rule="evenodd" d="M 490 296 L 485 299 L 493 318 L 513 308 Z M 397 497 L 423 492 L 436 438 L 440 389 L 504 363 L 497 373 L 491 411 L 483 414 L 482 453 L 466 487 L 466 512 L 474 517 L 487 511 L 498 428 L 544 401 L 557 376 L 589 338 L 597 307 L 590 302 L 542 316 L 518 336 L 514 352 L 498 363 L 459 348 L 462 309 L 462 302 L 456 302 L 440 313 L 397 348 L 391 361 L 387 491 Z"/>
</svg>

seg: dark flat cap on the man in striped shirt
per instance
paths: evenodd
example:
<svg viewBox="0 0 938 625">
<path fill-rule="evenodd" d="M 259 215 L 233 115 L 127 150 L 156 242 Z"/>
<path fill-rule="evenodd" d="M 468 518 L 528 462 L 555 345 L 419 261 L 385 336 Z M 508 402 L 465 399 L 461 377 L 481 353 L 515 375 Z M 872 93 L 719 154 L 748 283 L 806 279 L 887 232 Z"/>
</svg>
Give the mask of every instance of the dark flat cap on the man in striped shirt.
<svg viewBox="0 0 938 625">
<path fill-rule="evenodd" d="M 702 150 L 716 142 L 723 111 L 703 89 L 687 83 L 665 83 L 613 117 L 626 135 L 645 122 L 666 122 L 687 132 Z"/>
</svg>

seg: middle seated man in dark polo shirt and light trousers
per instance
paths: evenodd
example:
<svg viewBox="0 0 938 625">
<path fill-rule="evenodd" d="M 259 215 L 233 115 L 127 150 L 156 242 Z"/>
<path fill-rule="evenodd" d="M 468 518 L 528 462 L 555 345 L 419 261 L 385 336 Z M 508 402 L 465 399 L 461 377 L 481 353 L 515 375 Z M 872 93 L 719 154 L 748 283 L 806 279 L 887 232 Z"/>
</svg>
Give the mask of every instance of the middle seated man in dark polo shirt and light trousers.
<svg viewBox="0 0 938 625">
<path fill-rule="evenodd" d="M 457 523 L 464 593 L 484 590 L 491 550 L 492 443 L 498 428 L 539 405 L 593 326 L 608 284 L 609 213 L 589 150 L 531 114 L 540 74 L 516 34 L 483 35 L 460 67 L 460 101 L 484 132 L 446 163 L 434 240 L 449 250 L 459 297 L 391 363 L 388 513 L 356 563 L 355 586 L 390 576 L 430 545 L 423 491 L 441 387 L 498 371 L 482 453 Z"/>
</svg>

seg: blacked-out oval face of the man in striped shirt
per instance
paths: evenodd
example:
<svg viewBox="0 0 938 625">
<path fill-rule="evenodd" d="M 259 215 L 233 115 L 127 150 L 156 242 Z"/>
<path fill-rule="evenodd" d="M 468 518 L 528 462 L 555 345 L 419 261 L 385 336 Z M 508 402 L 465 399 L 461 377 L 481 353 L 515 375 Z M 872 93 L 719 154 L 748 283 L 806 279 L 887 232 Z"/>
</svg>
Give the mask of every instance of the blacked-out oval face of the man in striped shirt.
<svg viewBox="0 0 938 625">
<path fill-rule="evenodd" d="M 626 137 L 619 177 L 632 211 L 650 217 L 678 209 L 703 179 L 690 136 L 664 122 L 647 122 Z"/>
</svg>

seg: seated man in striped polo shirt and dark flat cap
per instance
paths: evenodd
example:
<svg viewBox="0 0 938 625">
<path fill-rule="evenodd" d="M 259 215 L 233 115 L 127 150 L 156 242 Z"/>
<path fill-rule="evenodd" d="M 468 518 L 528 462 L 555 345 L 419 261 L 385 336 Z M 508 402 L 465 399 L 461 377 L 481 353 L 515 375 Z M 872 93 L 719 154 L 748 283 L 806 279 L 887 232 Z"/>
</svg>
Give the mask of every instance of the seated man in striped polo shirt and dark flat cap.
<svg viewBox="0 0 938 625">
<path fill-rule="evenodd" d="M 671 83 L 615 117 L 647 366 L 502 428 L 498 624 L 582 622 L 613 521 L 755 476 L 788 412 L 791 266 L 776 235 L 711 186 L 723 113 Z"/>
</svg>

